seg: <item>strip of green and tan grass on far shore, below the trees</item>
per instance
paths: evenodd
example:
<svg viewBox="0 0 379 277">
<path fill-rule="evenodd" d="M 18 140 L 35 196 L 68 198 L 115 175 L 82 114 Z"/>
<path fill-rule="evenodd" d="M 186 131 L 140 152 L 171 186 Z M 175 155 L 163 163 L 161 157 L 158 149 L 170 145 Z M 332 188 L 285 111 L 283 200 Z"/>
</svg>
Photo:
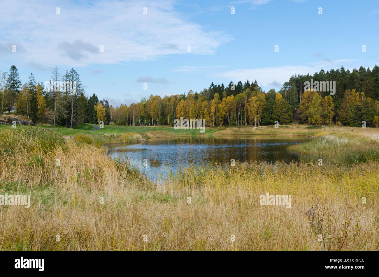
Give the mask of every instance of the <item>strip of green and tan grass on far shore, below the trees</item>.
<svg viewBox="0 0 379 277">
<path fill-rule="evenodd" d="M 51 126 L 38 124 L 38 126 L 20 126 L 22 128 L 50 129 L 58 132 L 66 137 L 74 137 L 76 135 L 91 136 L 93 140 L 103 143 L 122 143 L 136 142 L 141 139 L 164 138 L 164 137 L 198 137 L 198 136 L 214 136 L 214 135 L 291 135 L 305 137 L 321 137 L 323 135 L 335 134 L 358 134 L 366 135 L 374 139 L 379 139 L 379 129 L 376 128 L 356 128 L 345 126 L 310 126 L 307 124 L 288 123 L 280 125 L 279 128 L 274 126 L 239 126 L 239 127 L 218 127 L 205 128 L 205 132 L 200 133 L 199 130 L 175 130 L 168 126 L 104 126 L 94 131 L 94 126 L 88 123 L 81 123 L 73 129 L 58 126 L 52 129 Z M 0 124 L 0 130 L 12 129 L 11 125 Z M 128 135 L 125 135 L 128 134 Z M 139 134 L 141 137 L 136 136 Z M 128 138 L 130 136 L 130 138 Z"/>
</svg>

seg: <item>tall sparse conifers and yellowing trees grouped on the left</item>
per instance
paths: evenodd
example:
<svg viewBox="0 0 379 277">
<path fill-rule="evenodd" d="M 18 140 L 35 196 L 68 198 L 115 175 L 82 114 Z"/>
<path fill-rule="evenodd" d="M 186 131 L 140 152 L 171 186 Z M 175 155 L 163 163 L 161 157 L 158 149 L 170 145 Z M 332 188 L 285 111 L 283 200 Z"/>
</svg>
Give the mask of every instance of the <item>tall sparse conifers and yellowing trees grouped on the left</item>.
<svg viewBox="0 0 379 277">
<path fill-rule="evenodd" d="M 27 116 L 33 123 L 51 121 L 53 128 L 56 125 L 73 128 L 83 122 L 98 123 L 96 106 L 110 108 L 105 99 L 99 101 L 95 95 L 90 98 L 85 95 L 74 68 L 62 74 L 55 67 L 50 80 L 40 83 L 31 73 L 24 84 L 14 65 L 9 72 L 0 72 L 0 114 L 10 114 L 16 108 L 17 114 Z"/>
</svg>

